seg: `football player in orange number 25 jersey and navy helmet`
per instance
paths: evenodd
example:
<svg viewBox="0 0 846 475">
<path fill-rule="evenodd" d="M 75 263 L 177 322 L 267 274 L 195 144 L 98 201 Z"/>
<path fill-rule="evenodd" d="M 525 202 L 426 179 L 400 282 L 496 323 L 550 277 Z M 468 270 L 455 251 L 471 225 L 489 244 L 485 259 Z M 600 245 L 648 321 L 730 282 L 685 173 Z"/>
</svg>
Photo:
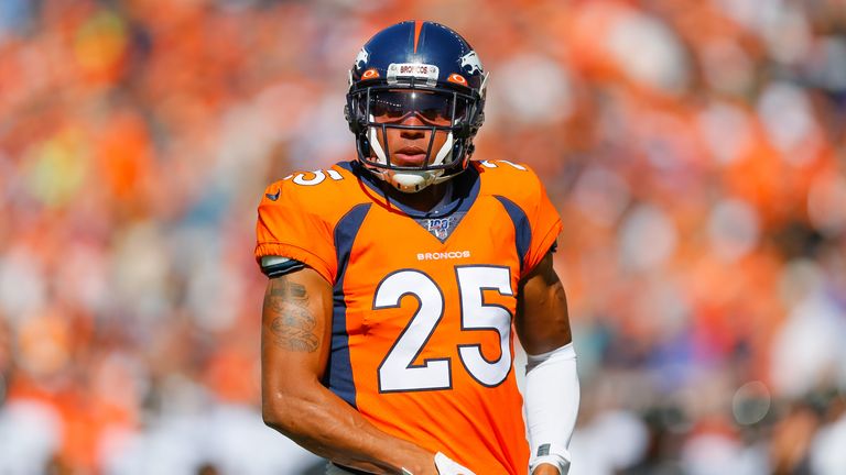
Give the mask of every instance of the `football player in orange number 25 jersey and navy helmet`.
<svg viewBox="0 0 846 475">
<path fill-rule="evenodd" d="M 444 25 L 380 31 L 349 71 L 357 157 L 264 191 L 263 418 L 327 473 L 568 470 L 579 395 L 552 266 L 562 223 L 529 167 L 470 161 L 487 79 Z"/>
</svg>

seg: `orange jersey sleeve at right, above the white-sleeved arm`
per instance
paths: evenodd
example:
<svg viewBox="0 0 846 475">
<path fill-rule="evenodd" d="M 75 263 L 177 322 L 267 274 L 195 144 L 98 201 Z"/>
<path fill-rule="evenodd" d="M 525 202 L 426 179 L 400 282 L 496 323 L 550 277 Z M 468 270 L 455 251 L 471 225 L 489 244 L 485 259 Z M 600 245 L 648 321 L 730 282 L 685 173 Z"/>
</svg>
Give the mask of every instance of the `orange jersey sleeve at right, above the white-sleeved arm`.
<svg viewBox="0 0 846 475">
<path fill-rule="evenodd" d="M 535 192 L 529 195 L 530 199 L 525 203 L 531 228 L 531 241 L 523 258 L 523 275 L 531 272 L 541 262 L 555 244 L 563 229 L 558 211 L 546 195 L 546 188 L 534 172 L 531 174 L 534 181 L 532 189 Z"/>
</svg>

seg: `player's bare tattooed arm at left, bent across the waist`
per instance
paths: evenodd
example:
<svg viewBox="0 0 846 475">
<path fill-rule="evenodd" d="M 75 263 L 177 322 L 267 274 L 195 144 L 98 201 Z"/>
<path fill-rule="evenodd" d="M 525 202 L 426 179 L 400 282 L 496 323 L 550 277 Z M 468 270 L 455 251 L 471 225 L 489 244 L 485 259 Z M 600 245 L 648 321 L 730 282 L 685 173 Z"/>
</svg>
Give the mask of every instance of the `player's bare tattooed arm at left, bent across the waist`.
<svg viewBox="0 0 846 475">
<path fill-rule="evenodd" d="M 332 287 L 311 268 L 272 278 L 262 311 L 262 416 L 305 449 L 378 474 L 433 474 L 434 454 L 390 437 L 319 382 L 328 358 Z"/>
</svg>

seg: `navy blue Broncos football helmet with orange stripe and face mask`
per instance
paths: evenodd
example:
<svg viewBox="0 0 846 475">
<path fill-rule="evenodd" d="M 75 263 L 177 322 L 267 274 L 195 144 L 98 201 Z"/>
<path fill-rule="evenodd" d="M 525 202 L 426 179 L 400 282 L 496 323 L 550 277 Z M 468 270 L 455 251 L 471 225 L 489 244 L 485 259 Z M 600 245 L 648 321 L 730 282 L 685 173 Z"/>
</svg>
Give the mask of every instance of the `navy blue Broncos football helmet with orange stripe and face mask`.
<svg viewBox="0 0 846 475">
<path fill-rule="evenodd" d="M 349 71 L 345 115 L 359 162 L 405 192 L 464 172 L 474 151 L 473 137 L 485 120 L 487 79 L 476 52 L 447 26 L 405 21 L 380 31 Z M 412 113 L 420 125 L 400 123 Z M 393 164 L 391 151 L 384 150 L 388 129 L 430 131 L 425 162 Z M 437 133 L 446 134 L 446 142 L 435 151 Z"/>
</svg>

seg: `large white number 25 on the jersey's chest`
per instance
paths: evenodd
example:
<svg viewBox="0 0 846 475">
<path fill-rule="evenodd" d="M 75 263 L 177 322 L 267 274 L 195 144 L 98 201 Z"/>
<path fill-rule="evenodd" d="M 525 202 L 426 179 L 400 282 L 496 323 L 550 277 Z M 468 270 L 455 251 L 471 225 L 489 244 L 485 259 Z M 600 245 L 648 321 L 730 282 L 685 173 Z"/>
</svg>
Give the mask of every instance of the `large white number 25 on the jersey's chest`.
<svg viewBox="0 0 846 475">
<path fill-rule="evenodd" d="M 492 362 L 482 355 L 480 344 L 458 345 L 459 358 L 479 384 L 498 386 L 511 369 L 511 312 L 505 307 L 485 303 L 482 290 L 512 296 L 511 272 L 508 267 L 456 266 L 455 275 L 460 292 L 462 330 L 496 331 L 500 345 L 499 358 Z M 448 357 L 414 364 L 444 317 L 444 296 L 437 284 L 420 270 L 391 274 L 376 289 L 373 309 L 397 308 L 406 295 L 417 299 L 417 310 L 379 365 L 379 390 L 449 389 L 453 369 Z"/>
</svg>

